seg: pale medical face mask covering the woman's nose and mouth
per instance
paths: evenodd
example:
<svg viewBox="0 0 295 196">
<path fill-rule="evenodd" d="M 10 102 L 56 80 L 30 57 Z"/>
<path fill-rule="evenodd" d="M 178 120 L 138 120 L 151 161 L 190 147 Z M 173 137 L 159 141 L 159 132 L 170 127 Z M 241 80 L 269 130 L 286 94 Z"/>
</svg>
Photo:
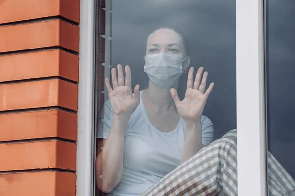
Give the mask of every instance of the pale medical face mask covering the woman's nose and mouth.
<svg viewBox="0 0 295 196">
<path fill-rule="evenodd" d="M 167 53 L 149 54 L 145 57 L 144 71 L 160 89 L 169 89 L 182 75 L 182 56 Z"/>
</svg>

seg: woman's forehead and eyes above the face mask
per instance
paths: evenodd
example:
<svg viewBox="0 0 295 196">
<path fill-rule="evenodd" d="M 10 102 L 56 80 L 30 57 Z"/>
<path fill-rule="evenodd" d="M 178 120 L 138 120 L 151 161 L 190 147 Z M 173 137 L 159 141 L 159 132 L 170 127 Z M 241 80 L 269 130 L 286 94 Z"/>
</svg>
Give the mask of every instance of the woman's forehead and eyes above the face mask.
<svg viewBox="0 0 295 196">
<path fill-rule="evenodd" d="M 160 29 L 148 37 L 146 55 L 168 53 L 185 57 L 182 37 L 170 29 Z"/>
</svg>

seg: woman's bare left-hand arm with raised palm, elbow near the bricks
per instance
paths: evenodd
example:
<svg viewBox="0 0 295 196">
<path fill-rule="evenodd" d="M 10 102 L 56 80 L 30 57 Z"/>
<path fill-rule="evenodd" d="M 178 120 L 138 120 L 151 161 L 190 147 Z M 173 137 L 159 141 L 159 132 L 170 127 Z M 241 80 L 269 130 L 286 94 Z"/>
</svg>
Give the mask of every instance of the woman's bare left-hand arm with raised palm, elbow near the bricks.
<svg viewBox="0 0 295 196">
<path fill-rule="evenodd" d="M 128 121 L 140 101 L 139 85 L 135 86 L 134 96 L 132 95 L 130 67 L 125 67 L 125 85 L 122 66 L 117 65 L 117 69 L 118 80 L 116 69 L 112 68 L 111 70 L 113 89 L 111 88 L 109 78 L 106 78 L 106 87 L 109 93 L 113 119 L 111 120 L 110 133 L 107 136 L 103 150 L 96 158 L 95 164 L 97 187 L 105 193 L 110 192 L 121 181 L 124 135 Z"/>
</svg>

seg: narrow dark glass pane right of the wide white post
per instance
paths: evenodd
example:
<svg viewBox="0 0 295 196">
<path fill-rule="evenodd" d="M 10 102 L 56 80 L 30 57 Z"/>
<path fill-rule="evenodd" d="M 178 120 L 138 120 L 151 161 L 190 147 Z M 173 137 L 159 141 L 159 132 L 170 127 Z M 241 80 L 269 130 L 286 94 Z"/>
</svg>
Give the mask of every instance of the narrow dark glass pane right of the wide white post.
<svg viewBox="0 0 295 196">
<path fill-rule="evenodd" d="M 295 3 L 265 0 L 265 5 L 268 150 L 286 169 L 278 173 L 280 179 L 274 182 L 280 187 L 275 193 L 284 195 L 295 190 L 294 181 L 285 177 L 289 173 L 295 179 Z M 268 167 L 271 178 L 275 168 L 271 163 Z M 268 182 L 270 193 L 272 183 Z"/>
</svg>

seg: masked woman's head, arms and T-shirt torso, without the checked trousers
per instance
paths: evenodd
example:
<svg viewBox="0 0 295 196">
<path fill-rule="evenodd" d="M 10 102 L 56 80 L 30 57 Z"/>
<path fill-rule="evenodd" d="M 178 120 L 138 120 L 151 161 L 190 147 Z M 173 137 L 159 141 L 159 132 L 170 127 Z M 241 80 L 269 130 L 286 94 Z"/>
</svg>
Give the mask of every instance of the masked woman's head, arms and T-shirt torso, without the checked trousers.
<svg viewBox="0 0 295 196">
<path fill-rule="evenodd" d="M 110 195 L 143 193 L 213 140 L 213 125 L 202 115 L 213 89 L 211 84 L 204 93 L 208 73 L 200 84 L 200 68 L 193 85 L 193 68 L 189 70 L 188 90 L 182 102 L 175 90 L 190 64 L 182 36 L 166 28 L 150 34 L 145 62 L 149 87 L 139 91 L 136 85 L 134 96 L 129 66 L 125 67 L 125 85 L 121 65 L 117 67 L 118 82 L 112 69 L 113 90 L 106 79 L 110 98 L 104 106 L 98 137 L 107 139 L 105 156 L 101 155 L 98 163 L 103 165 L 103 185 L 107 186 L 101 189 L 112 190 Z"/>
</svg>

